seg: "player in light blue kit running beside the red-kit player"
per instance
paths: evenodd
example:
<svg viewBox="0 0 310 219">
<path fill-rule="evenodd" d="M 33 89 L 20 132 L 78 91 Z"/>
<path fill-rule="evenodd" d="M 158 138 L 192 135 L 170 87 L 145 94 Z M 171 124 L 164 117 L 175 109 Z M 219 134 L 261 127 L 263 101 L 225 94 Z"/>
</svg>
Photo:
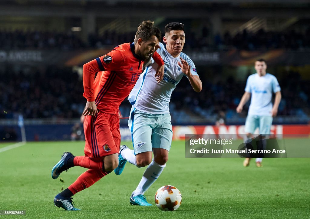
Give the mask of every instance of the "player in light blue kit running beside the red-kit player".
<svg viewBox="0 0 310 219">
<path fill-rule="evenodd" d="M 139 185 L 130 197 L 130 203 L 134 205 L 152 205 L 146 201 L 144 193 L 166 166 L 172 141 L 169 102 L 175 86 L 183 76 L 186 76 L 194 91 L 200 92 L 202 89 L 193 61 L 182 52 L 185 42 L 184 24 L 178 22 L 167 24 L 163 42 L 165 45 L 160 43 L 157 52 L 165 63 L 164 77 L 159 83 L 153 78 L 157 64 L 152 61 L 131 91 L 128 100 L 132 108 L 128 126 L 132 133 L 134 150 L 121 145 L 119 165 L 114 170 L 117 175 L 120 175 L 126 161 L 139 168 L 148 165 Z"/>
</svg>

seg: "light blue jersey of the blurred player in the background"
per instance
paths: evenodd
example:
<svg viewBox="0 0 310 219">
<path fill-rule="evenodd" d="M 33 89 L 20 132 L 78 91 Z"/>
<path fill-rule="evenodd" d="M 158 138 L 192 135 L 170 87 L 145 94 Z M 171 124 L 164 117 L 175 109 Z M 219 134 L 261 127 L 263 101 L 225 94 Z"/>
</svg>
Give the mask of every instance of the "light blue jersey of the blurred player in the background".
<svg viewBox="0 0 310 219">
<path fill-rule="evenodd" d="M 271 116 L 272 93 L 281 91 L 281 88 L 272 74 L 267 73 L 260 77 L 256 73 L 248 77 L 245 91 L 251 93 L 248 115 Z"/>
</svg>

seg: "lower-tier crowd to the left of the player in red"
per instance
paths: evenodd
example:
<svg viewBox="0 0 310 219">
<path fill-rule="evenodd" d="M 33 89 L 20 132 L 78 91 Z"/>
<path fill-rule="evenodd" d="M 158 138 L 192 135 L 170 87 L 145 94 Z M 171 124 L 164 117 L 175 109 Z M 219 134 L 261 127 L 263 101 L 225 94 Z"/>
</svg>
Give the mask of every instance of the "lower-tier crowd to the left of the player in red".
<svg viewBox="0 0 310 219">
<path fill-rule="evenodd" d="M 48 67 L 30 74 L 9 70 L 0 81 L 0 117 L 78 118 L 85 106 L 83 84 L 71 69 Z"/>
</svg>

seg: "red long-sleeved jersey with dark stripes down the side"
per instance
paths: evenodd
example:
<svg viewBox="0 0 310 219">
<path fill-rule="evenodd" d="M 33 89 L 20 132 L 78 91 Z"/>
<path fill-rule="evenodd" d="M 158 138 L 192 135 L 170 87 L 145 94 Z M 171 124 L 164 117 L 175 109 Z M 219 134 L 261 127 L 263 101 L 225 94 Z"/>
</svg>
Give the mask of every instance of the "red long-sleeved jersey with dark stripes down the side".
<svg viewBox="0 0 310 219">
<path fill-rule="evenodd" d="M 164 65 L 157 52 L 153 59 Z M 119 105 L 129 95 L 142 73 L 144 60 L 135 54 L 134 43 L 124 43 L 83 65 L 83 96 L 95 101 L 97 109 L 117 114 Z M 98 72 L 95 80 L 95 73 Z"/>
</svg>

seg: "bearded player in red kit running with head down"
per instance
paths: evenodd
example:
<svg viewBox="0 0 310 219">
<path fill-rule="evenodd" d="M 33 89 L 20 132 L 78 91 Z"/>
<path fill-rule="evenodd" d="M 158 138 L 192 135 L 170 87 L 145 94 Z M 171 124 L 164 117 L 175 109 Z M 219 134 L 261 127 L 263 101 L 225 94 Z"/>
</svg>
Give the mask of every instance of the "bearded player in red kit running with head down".
<svg viewBox="0 0 310 219">
<path fill-rule="evenodd" d="M 65 210 L 76 211 L 72 204 L 74 194 L 93 185 L 118 166 L 121 142 L 118 108 L 129 95 L 142 73 L 144 61 L 151 56 L 160 66 L 157 81 L 163 77 L 164 62 L 156 52 L 161 32 L 152 21 L 143 21 L 133 43 L 115 47 L 105 56 L 83 66 L 83 96 L 87 99 L 85 116 L 85 156 L 65 152 L 52 169 L 52 178 L 73 166 L 88 168 L 67 189 L 57 194 L 54 204 Z M 100 72 L 95 78 L 95 73 Z M 95 80 L 94 80 L 95 78 Z"/>
</svg>

